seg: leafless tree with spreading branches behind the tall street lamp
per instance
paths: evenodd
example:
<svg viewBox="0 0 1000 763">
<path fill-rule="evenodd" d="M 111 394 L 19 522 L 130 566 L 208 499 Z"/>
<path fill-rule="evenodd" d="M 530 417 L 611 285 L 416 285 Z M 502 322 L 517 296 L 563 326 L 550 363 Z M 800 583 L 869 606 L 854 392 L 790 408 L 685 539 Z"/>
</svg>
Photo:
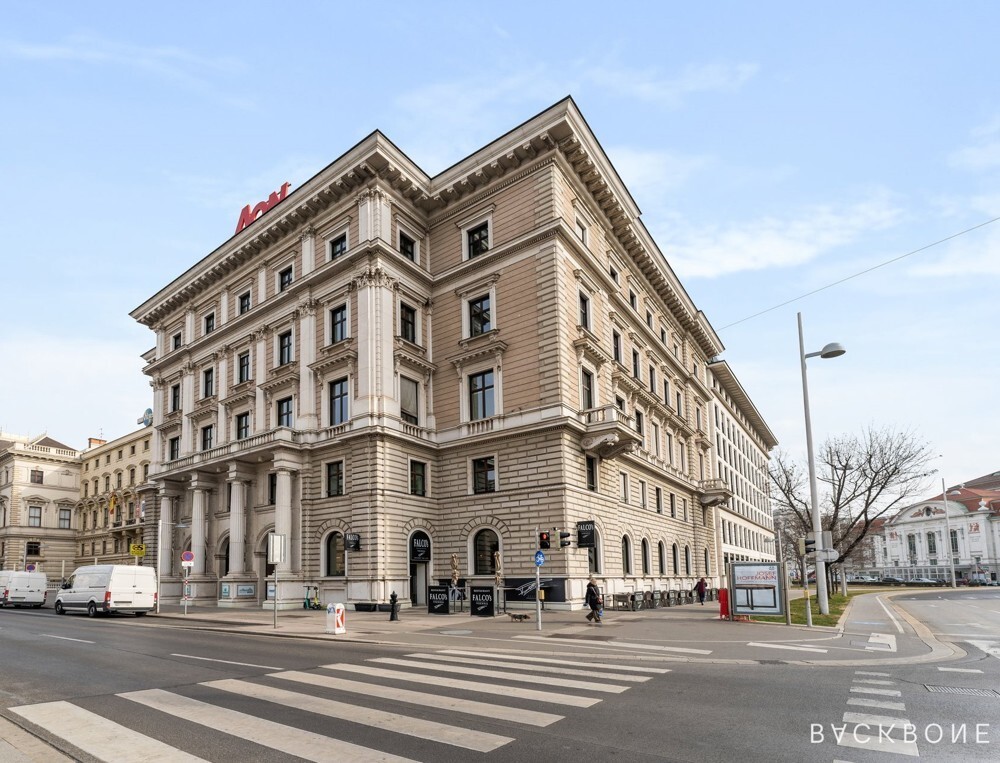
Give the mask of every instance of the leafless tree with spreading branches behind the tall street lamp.
<svg viewBox="0 0 1000 763">
<path fill-rule="evenodd" d="M 828 439 L 816 456 L 820 516 L 844 561 L 863 543 L 872 522 L 912 502 L 934 472 L 927 443 L 910 431 L 868 428 Z M 809 469 L 778 451 L 770 465 L 776 520 L 790 535 L 812 530 Z M 858 549 L 861 551 L 861 549 Z"/>
</svg>

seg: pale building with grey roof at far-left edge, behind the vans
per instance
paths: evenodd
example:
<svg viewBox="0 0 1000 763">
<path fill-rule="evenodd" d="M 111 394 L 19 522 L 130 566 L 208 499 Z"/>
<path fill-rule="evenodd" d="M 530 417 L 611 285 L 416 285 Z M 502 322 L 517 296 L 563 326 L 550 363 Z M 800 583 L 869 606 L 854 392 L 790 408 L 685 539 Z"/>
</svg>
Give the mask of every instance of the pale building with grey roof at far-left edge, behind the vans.
<svg viewBox="0 0 1000 763">
<path fill-rule="evenodd" d="M 57 581 L 72 570 L 78 456 L 47 435 L 0 432 L 0 569 L 34 568 Z"/>
</svg>

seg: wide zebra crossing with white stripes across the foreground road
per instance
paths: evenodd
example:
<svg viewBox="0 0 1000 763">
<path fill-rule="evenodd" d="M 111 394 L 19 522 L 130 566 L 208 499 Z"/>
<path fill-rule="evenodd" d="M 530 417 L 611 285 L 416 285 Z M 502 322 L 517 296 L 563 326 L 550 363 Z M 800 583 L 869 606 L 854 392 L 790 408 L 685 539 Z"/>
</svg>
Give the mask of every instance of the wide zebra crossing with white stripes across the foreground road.
<svg viewBox="0 0 1000 763">
<path fill-rule="evenodd" d="M 431 760 L 440 757 L 438 745 L 489 753 L 515 741 L 515 736 L 496 733 L 496 721 L 551 726 L 574 708 L 593 707 L 668 672 L 648 666 L 445 649 L 204 681 L 180 690 L 122 692 L 114 695 L 119 703 L 104 702 L 94 709 L 82 706 L 85 700 L 61 700 L 9 711 L 108 763 L 205 760 L 197 734 L 185 724 L 304 760 L 328 761 L 332 751 L 336 758 L 352 761 L 410 761 L 417 759 L 409 757 L 414 752 Z M 378 700 L 389 701 L 393 709 L 372 707 Z M 447 722 L 428 718 L 434 711 L 445 711 Z M 290 725 L 289 713 L 309 715 Z M 286 722 L 272 720 L 276 716 Z M 171 719 L 184 723 L 171 726 Z M 475 727 L 484 719 L 489 719 L 492 730 Z M 322 733 L 323 721 L 328 722 L 329 735 Z M 138 728 L 160 731 L 154 735 Z M 438 752 L 426 757 L 428 750 Z"/>
</svg>

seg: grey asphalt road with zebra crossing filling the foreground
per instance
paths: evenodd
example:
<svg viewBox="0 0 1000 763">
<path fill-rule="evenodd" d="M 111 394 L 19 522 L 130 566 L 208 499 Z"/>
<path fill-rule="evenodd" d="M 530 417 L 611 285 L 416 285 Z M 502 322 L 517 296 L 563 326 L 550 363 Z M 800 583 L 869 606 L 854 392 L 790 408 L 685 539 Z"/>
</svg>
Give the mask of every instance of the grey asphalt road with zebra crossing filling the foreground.
<svg viewBox="0 0 1000 763">
<path fill-rule="evenodd" d="M 469 650 L 4 610 L 0 713 L 83 761 L 995 760 L 1000 695 L 959 690 L 1000 686 L 1000 596 L 900 603 L 966 656 L 859 667 L 593 644 L 457 654 Z"/>
</svg>

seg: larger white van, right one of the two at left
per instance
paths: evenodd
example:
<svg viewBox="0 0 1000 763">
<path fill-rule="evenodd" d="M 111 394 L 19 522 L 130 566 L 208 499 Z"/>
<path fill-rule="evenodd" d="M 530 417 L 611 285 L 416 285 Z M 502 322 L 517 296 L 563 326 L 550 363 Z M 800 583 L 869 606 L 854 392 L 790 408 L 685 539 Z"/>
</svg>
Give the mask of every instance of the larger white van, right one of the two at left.
<svg viewBox="0 0 1000 763">
<path fill-rule="evenodd" d="M 60 615 L 78 609 L 94 617 L 98 612 L 134 612 L 144 615 L 156 608 L 156 571 L 128 564 L 94 564 L 77 567 L 56 594 Z"/>
</svg>

